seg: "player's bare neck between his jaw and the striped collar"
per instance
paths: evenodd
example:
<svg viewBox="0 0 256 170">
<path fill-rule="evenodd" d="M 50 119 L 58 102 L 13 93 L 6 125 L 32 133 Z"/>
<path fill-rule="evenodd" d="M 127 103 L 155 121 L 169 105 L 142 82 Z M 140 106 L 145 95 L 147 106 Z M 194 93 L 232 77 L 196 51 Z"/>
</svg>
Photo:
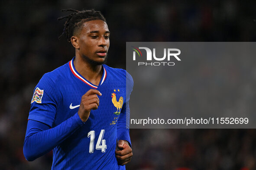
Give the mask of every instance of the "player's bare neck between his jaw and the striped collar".
<svg viewBox="0 0 256 170">
<path fill-rule="evenodd" d="M 89 82 L 94 85 L 100 84 L 100 79 L 102 77 L 102 65 L 96 65 L 88 63 L 82 57 L 75 57 L 74 61 L 75 69 Z"/>
</svg>

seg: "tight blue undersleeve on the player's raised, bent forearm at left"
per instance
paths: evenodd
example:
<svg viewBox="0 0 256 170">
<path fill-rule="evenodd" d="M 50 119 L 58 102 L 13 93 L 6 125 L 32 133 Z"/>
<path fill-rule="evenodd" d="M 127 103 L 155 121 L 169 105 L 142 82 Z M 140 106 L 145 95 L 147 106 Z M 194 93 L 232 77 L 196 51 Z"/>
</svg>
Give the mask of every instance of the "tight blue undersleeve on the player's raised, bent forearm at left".
<svg viewBox="0 0 256 170">
<path fill-rule="evenodd" d="M 33 161 L 51 151 L 83 124 L 78 113 L 52 129 L 42 122 L 29 120 L 23 145 L 23 154 L 26 160 Z"/>
</svg>

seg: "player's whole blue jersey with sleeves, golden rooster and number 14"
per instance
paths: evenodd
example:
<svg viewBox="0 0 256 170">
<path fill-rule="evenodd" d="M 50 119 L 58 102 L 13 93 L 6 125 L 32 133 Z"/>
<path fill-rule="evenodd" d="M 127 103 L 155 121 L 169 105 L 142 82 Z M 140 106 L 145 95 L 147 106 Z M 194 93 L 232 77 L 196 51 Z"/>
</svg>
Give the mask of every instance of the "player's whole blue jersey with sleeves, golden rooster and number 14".
<svg viewBox="0 0 256 170">
<path fill-rule="evenodd" d="M 46 73 L 36 85 L 24 155 L 31 161 L 53 149 L 53 170 L 125 169 L 117 165 L 115 149 L 118 140 L 131 143 L 128 103 L 133 79 L 126 70 L 103 64 L 100 83 L 93 85 L 76 71 L 74 60 Z M 79 104 L 91 88 L 102 94 L 100 105 L 83 123 Z"/>
</svg>

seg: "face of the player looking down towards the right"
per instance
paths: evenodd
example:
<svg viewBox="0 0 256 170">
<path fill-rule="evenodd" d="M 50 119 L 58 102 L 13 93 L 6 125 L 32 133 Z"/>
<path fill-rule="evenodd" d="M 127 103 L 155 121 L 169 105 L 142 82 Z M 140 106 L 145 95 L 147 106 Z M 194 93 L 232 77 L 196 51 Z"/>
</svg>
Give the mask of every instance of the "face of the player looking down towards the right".
<svg viewBox="0 0 256 170">
<path fill-rule="evenodd" d="M 102 64 L 107 57 L 109 48 L 107 23 L 102 20 L 84 22 L 78 35 L 79 54 L 88 62 Z"/>
</svg>

